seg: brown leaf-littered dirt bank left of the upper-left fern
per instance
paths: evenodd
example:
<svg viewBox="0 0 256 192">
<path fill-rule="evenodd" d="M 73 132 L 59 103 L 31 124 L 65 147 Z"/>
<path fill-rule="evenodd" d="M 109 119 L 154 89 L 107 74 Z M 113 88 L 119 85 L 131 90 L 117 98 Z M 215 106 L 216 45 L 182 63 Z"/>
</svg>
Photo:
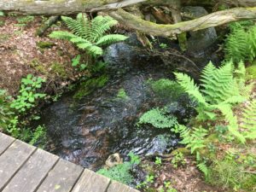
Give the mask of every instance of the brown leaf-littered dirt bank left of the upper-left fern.
<svg viewBox="0 0 256 192">
<path fill-rule="evenodd" d="M 46 89 L 53 91 L 78 78 L 71 60 L 79 54 L 73 45 L 48 38 L 48 34 L 59 26 L 52 26 L 44 37 L 35 36 L 44 17 L 35 17 L 26 26 L 20 26 L 15 16 L 0 17 L 0 89 L 10 95 L 17 93 L 20 79 L 32 73 L 47 79 Z M 49 47 L 40 48 L 40 43 Z"/>
</svg>

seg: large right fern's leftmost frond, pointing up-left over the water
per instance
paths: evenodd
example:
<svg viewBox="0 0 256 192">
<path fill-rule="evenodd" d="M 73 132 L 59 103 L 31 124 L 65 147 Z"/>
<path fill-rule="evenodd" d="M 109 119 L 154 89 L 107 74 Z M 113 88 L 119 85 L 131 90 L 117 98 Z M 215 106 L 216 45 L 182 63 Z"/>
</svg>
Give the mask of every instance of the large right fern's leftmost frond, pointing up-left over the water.
<svg viewBox="0 0 256 192">
<path fill-rule="evenodd" d="M 177 79 L 177 83 L 180 84 L 183 89 L 192 96 L 196 102 L 200 102 L 207 105 L 204 96 L 201 95 L 199 87 L 195 84 L 194 79 L 191 79 L 189 75 L 183 73 L 174 73 Z"/>
</svg>

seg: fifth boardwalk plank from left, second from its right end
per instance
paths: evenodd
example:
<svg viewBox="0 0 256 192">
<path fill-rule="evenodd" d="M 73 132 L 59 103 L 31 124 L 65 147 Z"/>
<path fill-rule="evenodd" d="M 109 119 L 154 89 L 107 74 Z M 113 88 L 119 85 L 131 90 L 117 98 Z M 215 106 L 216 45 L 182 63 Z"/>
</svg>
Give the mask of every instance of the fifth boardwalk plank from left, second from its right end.
<svg viewBox="0 0 256 192">
<path fill-rule="evenodd" d="M 73 192 L 105 192 L 110 179 L 85 169 Z"/>
</svg>

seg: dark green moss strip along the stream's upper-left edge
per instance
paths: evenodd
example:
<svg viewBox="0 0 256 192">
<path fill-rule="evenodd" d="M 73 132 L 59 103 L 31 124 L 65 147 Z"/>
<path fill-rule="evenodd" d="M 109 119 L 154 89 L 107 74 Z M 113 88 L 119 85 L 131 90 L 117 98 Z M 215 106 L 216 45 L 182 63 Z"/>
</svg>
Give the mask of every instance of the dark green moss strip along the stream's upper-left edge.
<svg viewBox="0 0 256 192">
<path fill-rule="evenodd" d="M 74 99 L 81 99 L 84 96 L 90 95 L 97 88 L 103 87 L 108 82 L 108 75 L 102 75 L 98 78 L 88 79 L 80 84 L 79 90 L 73 96 Z"/>
</svg>

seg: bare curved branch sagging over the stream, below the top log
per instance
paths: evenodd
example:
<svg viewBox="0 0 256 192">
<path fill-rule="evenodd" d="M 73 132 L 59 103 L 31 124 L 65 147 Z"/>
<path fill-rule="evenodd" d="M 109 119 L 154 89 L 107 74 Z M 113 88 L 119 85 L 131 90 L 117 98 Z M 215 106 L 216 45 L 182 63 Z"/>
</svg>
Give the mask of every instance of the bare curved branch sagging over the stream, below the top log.
<svg viewBox="0 0 256 192">
<path fill-rule="evenodd" d="M 173 25 L 161 25 L 142 20 L 123 9 L 112 11 L 109 15 L 115 20 L 119 20 L 121 24 L 136 29 L 137 31 L 155 36 L 171 37 L 182 32 L 197 31 L 212 26 L 221 26 L 236 20 L 256 19 L 256 7 L 227 9 L 202 16 L 195 20 L 183 21 Z"/>
</svg>

